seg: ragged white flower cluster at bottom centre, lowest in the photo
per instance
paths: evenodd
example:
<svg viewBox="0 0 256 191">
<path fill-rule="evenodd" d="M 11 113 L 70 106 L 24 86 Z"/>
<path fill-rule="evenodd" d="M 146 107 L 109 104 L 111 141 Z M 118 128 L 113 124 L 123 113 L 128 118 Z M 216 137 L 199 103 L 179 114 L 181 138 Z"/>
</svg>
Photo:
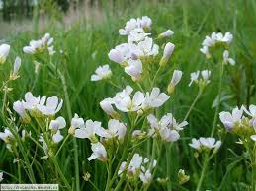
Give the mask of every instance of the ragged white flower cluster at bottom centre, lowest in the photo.
<svg viewBox="0 0 256 191">
<path fill-rule="evenodd" d="M 143 184 L 148 184 L 152 180 L 152 170 L 156 166 L 157 161 L 149 161 L 149 159 L 135 153 L 130 161 L 121 163 L 118 174 L 122 176 L 124 173 L 129 181 L 135 181 L 138 177 Z"/>
</svg>

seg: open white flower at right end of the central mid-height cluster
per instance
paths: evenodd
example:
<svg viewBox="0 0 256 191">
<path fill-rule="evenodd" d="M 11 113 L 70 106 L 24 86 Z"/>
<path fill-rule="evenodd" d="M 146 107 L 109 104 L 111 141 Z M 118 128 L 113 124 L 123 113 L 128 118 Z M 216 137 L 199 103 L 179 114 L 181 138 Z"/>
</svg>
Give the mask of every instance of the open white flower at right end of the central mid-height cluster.
<svg viewBox="0 0 256 191">
<path fill-rule="evenodd" d="M 157 108 L 162 106 L 170 96 L 166 95 L 165 93 L 160 93 L 159 88 L 153 88 L 152 92 L 149 94 L 146 93 L 142 108 L 148 109 L 148 108 Z"/>
</svg>

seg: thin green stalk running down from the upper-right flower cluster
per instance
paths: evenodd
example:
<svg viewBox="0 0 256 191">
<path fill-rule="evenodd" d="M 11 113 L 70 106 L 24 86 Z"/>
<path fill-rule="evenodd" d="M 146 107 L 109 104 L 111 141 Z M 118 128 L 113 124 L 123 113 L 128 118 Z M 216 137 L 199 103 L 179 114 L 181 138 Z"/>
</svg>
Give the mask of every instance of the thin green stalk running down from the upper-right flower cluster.
<svg viewBox="0 0 256 191">
<path fill-rule="evenodd" d="M 211 137 L 213 137 L 213 134 L 215 132 L 217 116 L 218 116 L 219 108 L 220 108 L 223 74 L 224 74 L 224 63 L 222 62 L 220 70 L 219 70 L 218 100 L 217 100 L 217 106 L 216 106 L 216 110 L 215 110 L 215 114 L 214 114 L 214 119 L 213 119 L 213 127 L 212 127 Z"/>
</svg>

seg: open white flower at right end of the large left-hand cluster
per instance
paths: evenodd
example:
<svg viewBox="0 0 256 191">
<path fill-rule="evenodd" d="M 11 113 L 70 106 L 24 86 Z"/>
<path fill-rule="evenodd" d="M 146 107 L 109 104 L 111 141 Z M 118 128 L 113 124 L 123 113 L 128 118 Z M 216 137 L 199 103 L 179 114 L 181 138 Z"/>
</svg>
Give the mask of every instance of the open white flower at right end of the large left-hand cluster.
<svg viewBox="0 0 256 191">
<path fill-rule="evenodd" d="M 38 109 L 44 114 L 44 115 L 54 115 L 56 114 L 63 105 L 63 100 L 58 99 L 57 96 L 51 96 L 48 97 L 46 100 L 46 104 L 44 105 L 45 99 L 41 100 L 41 104 L 38 105 Z"/>
</svg>

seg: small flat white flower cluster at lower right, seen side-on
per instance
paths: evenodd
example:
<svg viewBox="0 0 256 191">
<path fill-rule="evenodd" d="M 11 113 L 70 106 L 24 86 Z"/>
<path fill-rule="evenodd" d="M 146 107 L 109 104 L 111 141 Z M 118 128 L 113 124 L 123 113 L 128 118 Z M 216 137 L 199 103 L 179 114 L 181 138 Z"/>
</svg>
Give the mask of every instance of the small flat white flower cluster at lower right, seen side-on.
<svg viewBox="0 0 256 191">
<path fill-rule="evenodd" d="M 213 153 L 215 153 L 220 148 L 221 141 L 216 141 L 213 137 L 201 137 L 199 139 L 193 138 L 189 145 L 199 152 L 213 150 Z"/>
</svg>

